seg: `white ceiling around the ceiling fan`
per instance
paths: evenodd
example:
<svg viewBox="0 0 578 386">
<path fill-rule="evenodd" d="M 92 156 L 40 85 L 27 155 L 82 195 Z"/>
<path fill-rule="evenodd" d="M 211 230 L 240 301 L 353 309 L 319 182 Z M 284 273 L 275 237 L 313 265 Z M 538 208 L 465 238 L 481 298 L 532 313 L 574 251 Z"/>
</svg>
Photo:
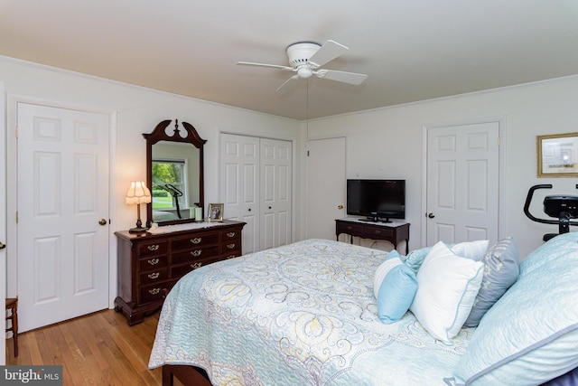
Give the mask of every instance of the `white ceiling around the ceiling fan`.
<svg viewBox="0 0 578 386">
<path fill-rule="evenodd" d="M 360 86 L 275 92 L 291 72 L 236 65 L 328 39 L 350 51 L 323 67 Z M 578 74 L 578 1 L 0 0 L 0 55 L 318 118 Z"/>
</svg>

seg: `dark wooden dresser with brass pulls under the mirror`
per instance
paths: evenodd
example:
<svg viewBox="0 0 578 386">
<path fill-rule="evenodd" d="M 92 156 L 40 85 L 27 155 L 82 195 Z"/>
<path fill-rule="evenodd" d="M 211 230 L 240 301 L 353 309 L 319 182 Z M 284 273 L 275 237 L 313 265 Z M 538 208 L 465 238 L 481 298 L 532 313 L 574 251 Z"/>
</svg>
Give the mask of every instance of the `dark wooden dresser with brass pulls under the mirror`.
<svg viewBox="0 0 578 386">
<path fill-rule="evenodd" d="M 208 223 L 206 228 L 140 234 L 117 231 L 118 296 L 115 309 L 128 325 L 163 306 L 172 286 L 191 270 L 241 255 L 245 222 Z M 194 226 L 194 225 L 193 225 Z M 200 226 L 200 224 L 198 225 Z"/>
</svg>

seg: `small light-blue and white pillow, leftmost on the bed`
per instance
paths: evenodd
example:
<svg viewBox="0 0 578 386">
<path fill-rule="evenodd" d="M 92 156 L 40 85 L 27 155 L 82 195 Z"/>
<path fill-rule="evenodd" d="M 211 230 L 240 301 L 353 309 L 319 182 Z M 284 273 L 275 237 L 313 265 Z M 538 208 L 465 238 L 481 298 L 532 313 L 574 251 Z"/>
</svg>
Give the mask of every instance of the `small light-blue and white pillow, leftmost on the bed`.
<svg viewBox="0 0 578 386">
<path fill-rule="evenodd" d="M 417 280 L 414 271 L 406 267 L 395 249 L 376 270 L 373 284 L 379 320 L 389 325 L 401 319 L 414 300 Z"/>
</svg>

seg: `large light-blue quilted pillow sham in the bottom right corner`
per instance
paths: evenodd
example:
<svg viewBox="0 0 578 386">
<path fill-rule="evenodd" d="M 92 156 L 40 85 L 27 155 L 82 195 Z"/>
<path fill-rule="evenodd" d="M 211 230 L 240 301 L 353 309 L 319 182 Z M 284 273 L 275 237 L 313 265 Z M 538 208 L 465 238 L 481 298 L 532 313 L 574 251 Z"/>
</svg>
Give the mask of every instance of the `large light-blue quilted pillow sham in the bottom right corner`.
<svg viewBox="0 0 578 386">
<path fill-rule="evenodd" d="M 548 262 L 539 269 L 520 263 L 517 282 L 481 319 L 461 356 L 457 384 L 539 384 L 578 367 L 578 232 L 546 244 L 541 250 L 564 253 L 535 254 Z"/>
</svg>

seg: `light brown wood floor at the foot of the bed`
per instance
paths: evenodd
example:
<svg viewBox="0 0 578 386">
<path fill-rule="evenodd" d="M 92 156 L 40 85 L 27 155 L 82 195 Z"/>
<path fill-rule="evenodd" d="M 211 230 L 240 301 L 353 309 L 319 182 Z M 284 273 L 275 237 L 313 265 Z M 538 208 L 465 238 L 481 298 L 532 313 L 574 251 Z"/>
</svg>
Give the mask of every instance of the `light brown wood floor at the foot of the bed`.
<svg viewBox="0 0 578 386">
<path fill-rule="evenodd" d="M 60 364 L 64 385 L 160 385 L 161 369 L 147 368 L 158 315 L 130 327 L 105 310 L 18 334 L 16 358 L 6 340 L 6 364 Z"/>
</svg>

